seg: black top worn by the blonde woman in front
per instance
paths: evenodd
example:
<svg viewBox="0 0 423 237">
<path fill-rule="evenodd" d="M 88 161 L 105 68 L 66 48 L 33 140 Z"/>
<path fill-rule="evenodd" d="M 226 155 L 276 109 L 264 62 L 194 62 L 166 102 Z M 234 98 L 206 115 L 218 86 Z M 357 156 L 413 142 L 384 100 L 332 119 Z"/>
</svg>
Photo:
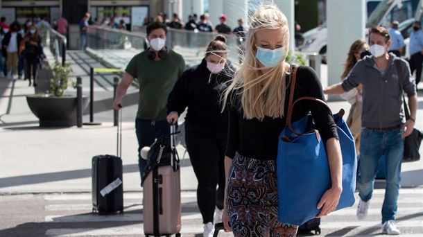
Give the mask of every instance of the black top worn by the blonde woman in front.
<svg viewBox="0 0 423 237">
<path fill-rule="evenodd" d="M 286 76 L 286 83 L 289 84 L 289 76 Z M 288 85 L 285 93 L 284 114 L 288 114 L 289 92 L 291 85 Z M 258 119 L 244 119 L 241 107 L 241 96 L 232 94 L 228 102 L 229 131 L 227 133 L 227 147 L 225 155 L 233 158 L 238 151 L 246 157 L 275 160 L 277 157 L 277 146 L 279 134 L 285 128 L 286 118 L 272 119 L 265 117 L 263 121 Z M 322 85 L 311 67 L 300 66 L 297 70 L 294 98 L 311 96 L 325 100 Z M 324 141 L 332 137 L 338 139 L 336 124 L 329 110 L 325 105 L 309 100 L 304 100 L 295 105 L 292 121 L 297 121 L 309 112 L 313 115 L 320 136 Z"/>
</svg>

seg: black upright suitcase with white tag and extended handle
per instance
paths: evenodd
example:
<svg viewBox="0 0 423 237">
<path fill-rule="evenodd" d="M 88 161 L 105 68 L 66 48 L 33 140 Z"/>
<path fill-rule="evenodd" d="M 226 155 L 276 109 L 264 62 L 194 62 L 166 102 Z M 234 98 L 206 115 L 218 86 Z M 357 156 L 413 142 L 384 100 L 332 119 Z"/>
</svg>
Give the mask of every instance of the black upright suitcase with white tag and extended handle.
<svg viewBox="0 0 423 237">
<path fill-rule="evenodd" d="M 92 158 L 92 211 L 99 214 L 123 213 L 122 112 L 117 128 L 117 155 Z"/>
</svg>

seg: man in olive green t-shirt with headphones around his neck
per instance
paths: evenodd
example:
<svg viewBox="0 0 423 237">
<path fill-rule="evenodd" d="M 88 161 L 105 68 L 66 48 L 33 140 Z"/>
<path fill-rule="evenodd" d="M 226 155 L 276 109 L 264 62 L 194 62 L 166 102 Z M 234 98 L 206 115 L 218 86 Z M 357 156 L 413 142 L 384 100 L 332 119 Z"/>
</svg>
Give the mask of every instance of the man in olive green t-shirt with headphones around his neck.
<svg viewBox="0 0 423 237">
<path fill-rule="evenodd" d="M 135 78 L 139 81 L 139 99 L 135 130 L 138 139 L 138 166 L 142 173 L 146 160 L 141 158 L 141 148 L 150 146 L 157 137 L 169 134 L 166 121 L 166 103 L 169 94 L 185 69 L 184 58 L 166 49 L 166 26 L 155 22 L 147 27 L 150 48 L 130 60 L 126 73 L 116 91 L 113 108 L 122 107 L 122 98 Z"/>
</svg>

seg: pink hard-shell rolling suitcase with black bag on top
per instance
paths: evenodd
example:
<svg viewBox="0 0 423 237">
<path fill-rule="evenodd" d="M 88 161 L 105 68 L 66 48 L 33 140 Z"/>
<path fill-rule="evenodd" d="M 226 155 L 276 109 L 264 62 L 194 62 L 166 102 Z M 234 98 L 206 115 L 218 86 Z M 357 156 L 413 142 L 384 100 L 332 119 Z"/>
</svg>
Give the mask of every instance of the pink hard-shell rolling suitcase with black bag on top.
<svg viewBox="0 0 423 237">
<path fill-rule="evenodd" d="M 148 151 L 150 172 L 144 172 L 143 204 L 146 236 L 180 236 L 180 166 L 175 149 L 175 125 L 170 136 L 156 139 Z M 169 144 L 170 143 L 170 144 Z"/>
</svg>

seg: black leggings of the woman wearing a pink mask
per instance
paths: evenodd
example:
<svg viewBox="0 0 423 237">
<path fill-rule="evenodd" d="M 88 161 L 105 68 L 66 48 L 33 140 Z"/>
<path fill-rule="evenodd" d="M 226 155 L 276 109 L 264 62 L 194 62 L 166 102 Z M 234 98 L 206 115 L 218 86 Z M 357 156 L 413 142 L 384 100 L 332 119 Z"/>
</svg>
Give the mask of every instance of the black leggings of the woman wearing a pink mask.
<svg viewBox="0 0 423 237">
<path fill-rule="evenodd" d="M 188 130 L 185 134 L 189 159 L 198 179 L 197 202 L 203 223 L 213 222 L 216 206 L 223 209 L 226 139 L 226 134 Z"/>
</svg>

